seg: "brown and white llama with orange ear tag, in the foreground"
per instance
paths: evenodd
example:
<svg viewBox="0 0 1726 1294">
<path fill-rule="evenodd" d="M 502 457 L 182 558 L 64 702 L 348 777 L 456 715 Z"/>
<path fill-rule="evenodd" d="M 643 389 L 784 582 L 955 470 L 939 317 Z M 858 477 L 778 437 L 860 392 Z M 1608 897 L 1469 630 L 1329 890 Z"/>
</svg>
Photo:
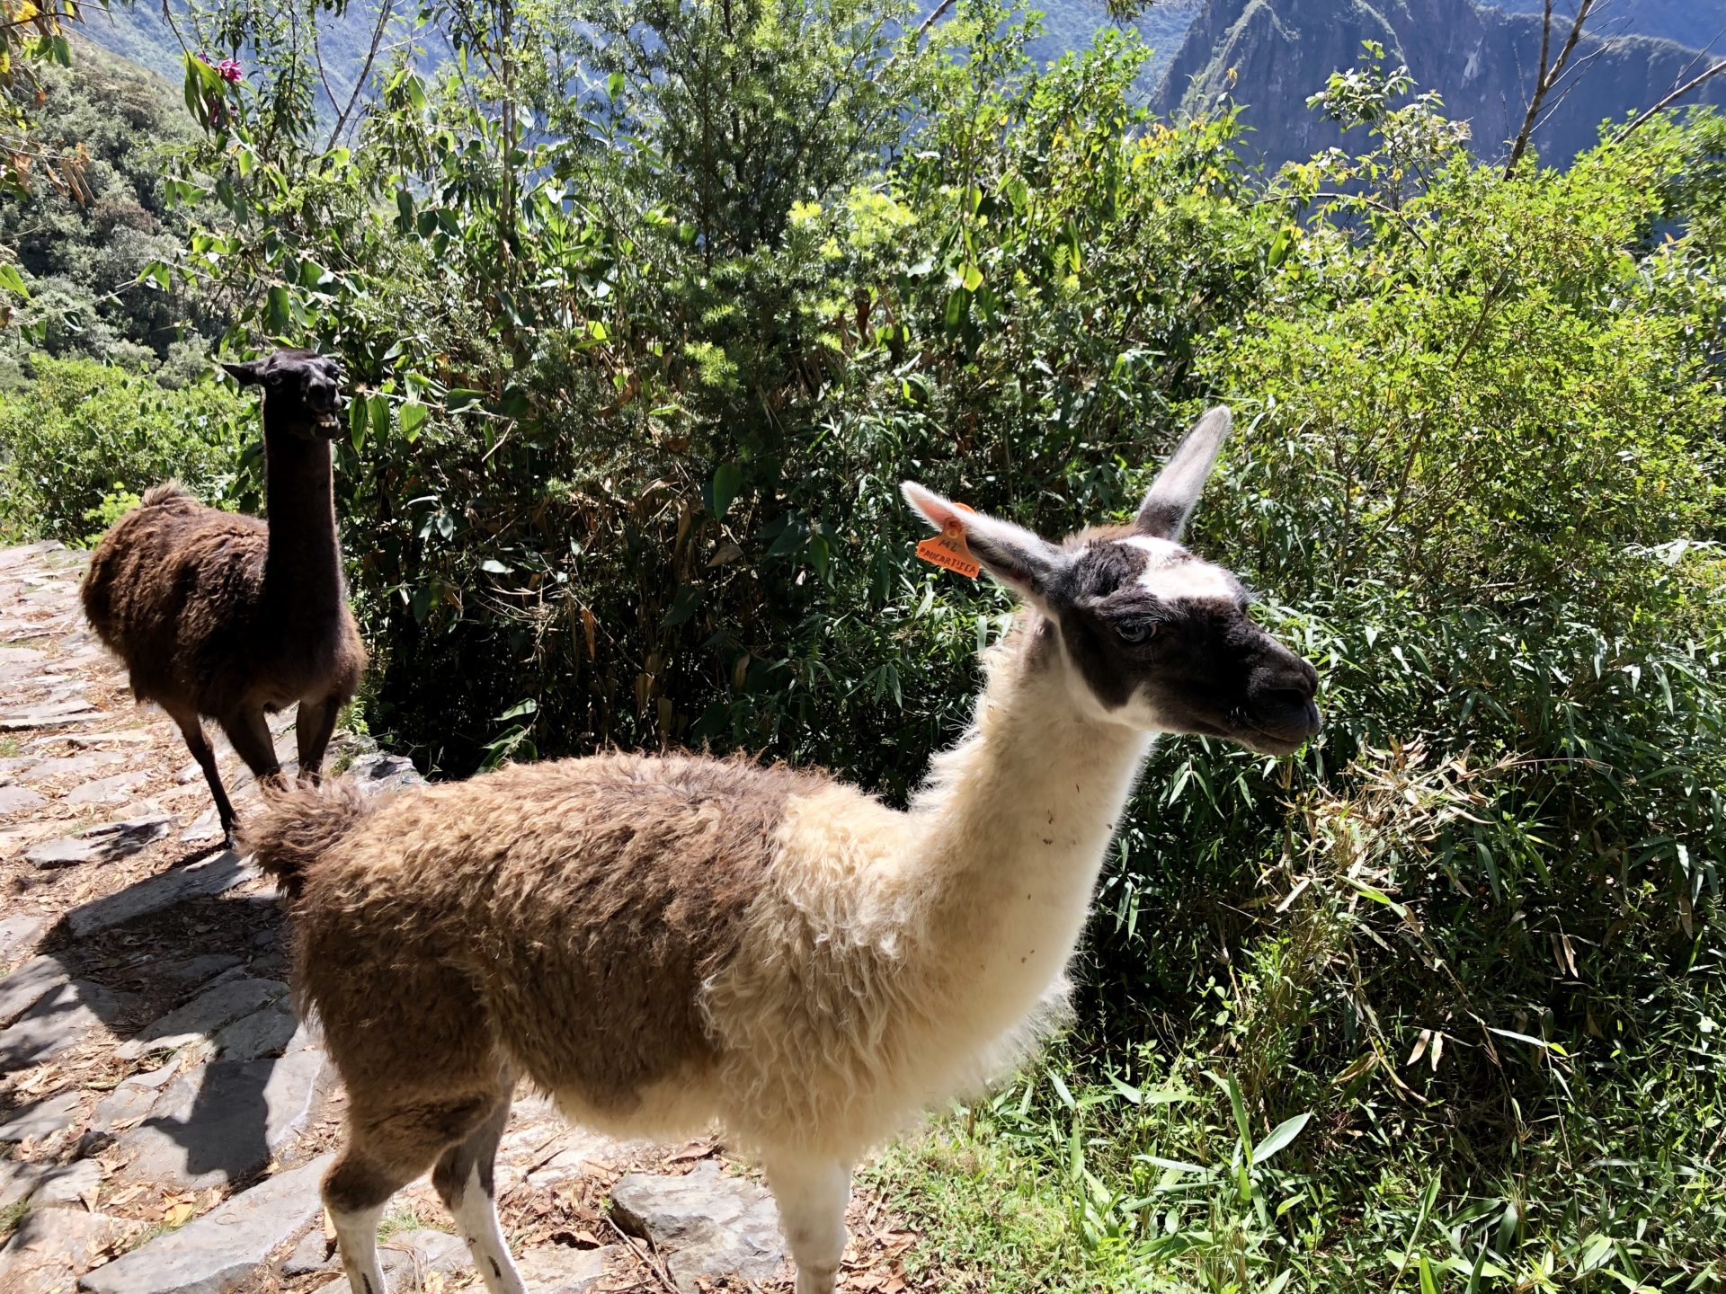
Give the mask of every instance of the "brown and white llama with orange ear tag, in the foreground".
<svg viewBox="0 0 1726 1294">
<path fill-rule="evenodd" d="M 1022 1056 L 1065 992 L 1103 854 L 1160 732 L 1291 752 L 1317 676 L 1177 538 L 1229 426 L 1193 430 L 1129 526 L 1049 543 L 958 511 L 1024 602 L 970 732 L 910 809 L 816 773 L 697 756 L 521 764 L 369 809 L 268 795 L 302 1006 L 349 1090 L 323 1184 L 354 1294 L 426 1168 L 492 1294 L 523 1294 L 492 1158 L 526 1080 L 614 1135 L 718 1120 L 759 1156 L 828 1294 L 851 1166 Z"/>
</svg>

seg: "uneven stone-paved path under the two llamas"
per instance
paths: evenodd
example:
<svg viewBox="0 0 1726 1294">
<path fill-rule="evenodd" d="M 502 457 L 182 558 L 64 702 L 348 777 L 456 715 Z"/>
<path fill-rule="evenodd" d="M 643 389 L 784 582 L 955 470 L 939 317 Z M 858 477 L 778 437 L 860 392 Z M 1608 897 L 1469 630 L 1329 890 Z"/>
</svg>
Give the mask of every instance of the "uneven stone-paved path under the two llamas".
<svg viewBox="0 0 1726 1294">
<path fill-rule="evenodd" d="M 318 1204 L 343 1092 L 293 1013 L 283 916 L 219 849 L 173 723 L 83 623 L 83 554 L 0 549 L 0 1289 L 347 1294 Z M 276 716 L 292 754 L 293 716 Z M 255 787 L 226 747 L 243 814 Z M 338 733 L 376 794 L 413 766 Z M 787 1291 L 772 1197 L 711 1139 L 620 1144 L 516 1102 L 499 1204 L 533 1294 Z M 392 1203 L 392 1294 L 482 1289 L 426 1182 Z M 915 1235 L 860 1192 L 844 1289 Z"/>
</svg>

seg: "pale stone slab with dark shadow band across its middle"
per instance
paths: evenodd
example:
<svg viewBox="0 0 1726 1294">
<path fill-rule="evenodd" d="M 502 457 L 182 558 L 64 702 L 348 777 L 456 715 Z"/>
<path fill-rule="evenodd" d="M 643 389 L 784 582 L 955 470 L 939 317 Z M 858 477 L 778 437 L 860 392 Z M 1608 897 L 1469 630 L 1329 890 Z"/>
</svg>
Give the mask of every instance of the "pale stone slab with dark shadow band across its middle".
<svg viewBox="0 0 1726 1294">
<path fill-rule="evenodd" d="M 323 1066 L 316 1049 L 278 1061 L 200 1065 L 157 1097 L 143 1123 L 121 1134 L 121 1153 L 133 1156 L 121 1172 L 202 1189 L 262 1168 L 306 1125 Z"/>
</svg>

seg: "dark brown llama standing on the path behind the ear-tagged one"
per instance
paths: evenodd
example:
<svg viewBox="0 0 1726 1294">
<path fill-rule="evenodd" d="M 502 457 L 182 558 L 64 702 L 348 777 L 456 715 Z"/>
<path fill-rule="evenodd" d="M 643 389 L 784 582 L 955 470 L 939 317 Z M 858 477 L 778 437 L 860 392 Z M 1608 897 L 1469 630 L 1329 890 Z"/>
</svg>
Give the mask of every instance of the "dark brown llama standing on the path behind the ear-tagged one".
<svg viewBox="0 0 1726 1294">
<path fill-rule="evenodd" d="M 264 393 L 269 521 L 204 507 L 174 481 L 155 485 L 102 537 L 83 599 L 97 635 L 126 663 L 133 695 L 180 725 L 231 844 L 235 813 L 200 716 L 264 780 L 281 773 L 264 716 L 299 702 L 300 773 L 316 780 L 366 649 L 335 535 L 340 369 L 309 350 L 223 367 Z"/>
</svg>

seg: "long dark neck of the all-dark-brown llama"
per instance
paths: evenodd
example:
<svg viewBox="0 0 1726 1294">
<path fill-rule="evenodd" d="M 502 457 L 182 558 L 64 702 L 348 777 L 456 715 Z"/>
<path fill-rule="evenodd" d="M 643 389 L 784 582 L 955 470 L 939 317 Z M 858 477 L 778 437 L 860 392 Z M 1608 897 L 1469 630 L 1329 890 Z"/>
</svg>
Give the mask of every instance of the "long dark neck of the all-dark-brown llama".
<svg viewBox="0 0 1726 1294">
<path fill-rule="evenodd" d="M 342 604 L 342 554 L 335 537 L 335 476 L 330 442 L 304 440 L 273 423 L 264 405 L 264 507 L 269 556 L 264 595 L 300 614 Z"/>
</svg>

